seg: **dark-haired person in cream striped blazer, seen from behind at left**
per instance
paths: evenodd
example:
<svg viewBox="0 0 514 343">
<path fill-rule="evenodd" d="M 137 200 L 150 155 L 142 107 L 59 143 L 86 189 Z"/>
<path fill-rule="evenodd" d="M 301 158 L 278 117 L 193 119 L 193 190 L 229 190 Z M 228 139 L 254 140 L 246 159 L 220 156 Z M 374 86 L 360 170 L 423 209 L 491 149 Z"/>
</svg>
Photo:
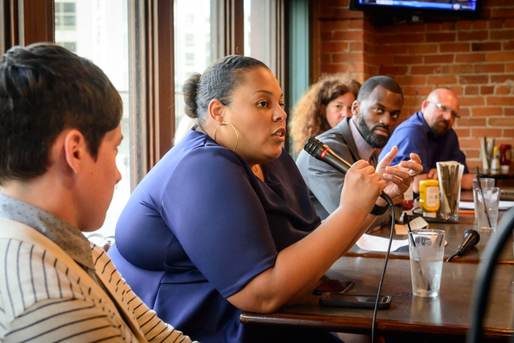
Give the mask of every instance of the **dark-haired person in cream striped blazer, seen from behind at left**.
<svg viewBox="0 0 514 343">
<path fill-rule="evenodd" d="M 63 47 L 3 56 L 1 342 L 191 342 L 82 233 L 101 227 L 121 179 L 121 114 L 108 77 Z"/>
</svg>

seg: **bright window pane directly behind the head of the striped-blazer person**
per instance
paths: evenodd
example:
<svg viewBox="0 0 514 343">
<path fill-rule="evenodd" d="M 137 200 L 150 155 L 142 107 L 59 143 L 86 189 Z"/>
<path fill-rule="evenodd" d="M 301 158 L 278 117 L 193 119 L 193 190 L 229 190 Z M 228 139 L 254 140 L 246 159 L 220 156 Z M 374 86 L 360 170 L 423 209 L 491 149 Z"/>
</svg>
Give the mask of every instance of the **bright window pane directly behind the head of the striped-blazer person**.
<svg viewBox="0 0 514 343">
<path fill-rule="evenodd" d="M 103 236 L 114 235 L 119 214 L 130 196 L 126 2 L 125 0 L 76 0 L 71 3 L 56 0 L 56 43 L 97 64 L 119 90 L 123 101 L 121 133 L 125 138 L 121 142 L 117 155 L 117 165 L 122 179 L 114 190 L 105 223 L 95 231 Z M 66 13 L 70 17 L 73 14 L 73 28 L 71 25 L 58 26 L 58 13 Z"/>
</svg>

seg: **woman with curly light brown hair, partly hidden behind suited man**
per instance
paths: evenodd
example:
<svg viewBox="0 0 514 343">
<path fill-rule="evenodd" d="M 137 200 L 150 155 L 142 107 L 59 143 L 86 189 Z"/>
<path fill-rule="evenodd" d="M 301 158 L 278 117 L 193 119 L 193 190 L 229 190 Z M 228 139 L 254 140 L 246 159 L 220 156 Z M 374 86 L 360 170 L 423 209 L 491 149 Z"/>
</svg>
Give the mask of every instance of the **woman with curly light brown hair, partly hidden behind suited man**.
<svg viewBox="0 0 514 343">
<path fill-rule="evenodd" d="M 317 136 L 352 116 L 352 103 L 360 84 L 343 74 L 321 75 L 293 109 L 291 137 L 293 151 L 299 153 L 309 137 Z"/>
</svg>

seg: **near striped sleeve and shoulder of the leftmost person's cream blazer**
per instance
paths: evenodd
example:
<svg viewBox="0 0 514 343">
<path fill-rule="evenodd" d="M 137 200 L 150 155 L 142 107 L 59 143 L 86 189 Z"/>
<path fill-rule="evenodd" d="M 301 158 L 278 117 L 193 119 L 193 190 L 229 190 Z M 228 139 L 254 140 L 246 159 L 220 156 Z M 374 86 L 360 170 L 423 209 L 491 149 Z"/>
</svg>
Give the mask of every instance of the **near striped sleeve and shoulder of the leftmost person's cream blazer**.
<svg viewBox="0 0 514 343">
<path fill-rule="evenodd" d="M 0 342 L 136 342 L 88 283 L 45 249 L 0 240 Z"/>
</svg>

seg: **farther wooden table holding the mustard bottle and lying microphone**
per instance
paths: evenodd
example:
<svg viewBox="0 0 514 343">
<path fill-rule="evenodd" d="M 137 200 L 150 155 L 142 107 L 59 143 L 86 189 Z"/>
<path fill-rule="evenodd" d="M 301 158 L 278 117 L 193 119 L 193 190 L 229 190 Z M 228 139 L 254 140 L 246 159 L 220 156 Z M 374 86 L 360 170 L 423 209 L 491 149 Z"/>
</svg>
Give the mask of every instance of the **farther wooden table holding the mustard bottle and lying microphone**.
<svg viewBox="0 0 514 343">
<path fill-rule="evenodd" d="M 500 212 L 501 215 L 501 212 Z M 441 224 L 441 223 L 429 223 L 429 229 L 440 229 L 445 231 L 446 236 L 445 240 L 448 242 L 444 249 L 445 261 L 456 253 L 458 246 L 463 242 L 463 234 L 467 229 L 476 229 L 476 225 L 474 225 L 474 214 L 459 214 L 458 216 L 458 224 Z M 379 231 L 375 231 L 372 234 L 374 236 L 386 237 L 389 238 L 391 234 L 390 227 L 383 227 Z M 480 256 L 482 255 L 489 238 L 491 237 L 492 232 L 479 232 L 480 233 L 480 241 L 476 244 L 476 246 L 467 252 L 462 257 L 456 257 L 452 259 L 450 263 L 478 263 L 480 262 Z M 398 236 L 393 233 L 393 239 L 395 240 L 405 240 L 407 236 L 402 235 Z M 360 249 L 357 245 L 354 245 L 350 251 L 348 251 L 345 256 L 347 257 L 370 257 L 370 258 L 381 258 L 385 257 L 385 253 L 380 253 L 376 251 L 365 251 Z M 400 251 L 393 251 L 389 255 L 391 259 L 408 259 L 408 247 L 401 248 Z M 514 251 L 513 251 L 513 241 L 512 237 L 509 238 L 509 242 L 504 246 L 502 253 L 500 255 L 500 259 L 498 259 L 498 264 L 513 264 L 514 265 Z"/>
</svg>

